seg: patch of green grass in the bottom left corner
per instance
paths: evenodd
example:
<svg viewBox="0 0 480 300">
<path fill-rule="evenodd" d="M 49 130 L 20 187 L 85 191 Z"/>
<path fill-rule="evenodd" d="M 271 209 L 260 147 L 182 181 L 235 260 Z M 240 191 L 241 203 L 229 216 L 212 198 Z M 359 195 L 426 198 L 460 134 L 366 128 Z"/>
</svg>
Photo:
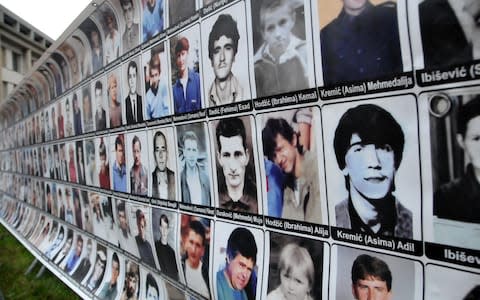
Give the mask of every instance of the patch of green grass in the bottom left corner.
<svg viewBox="0 0 480 300">
<path fill-rule="evenodd" d="M 48 269 L 35 278 L 40 263 L 24 275 L 33 260 L 34 256 L 0 224 L 0 290 L 5 299 L 79 299 Z"/>
</svg>

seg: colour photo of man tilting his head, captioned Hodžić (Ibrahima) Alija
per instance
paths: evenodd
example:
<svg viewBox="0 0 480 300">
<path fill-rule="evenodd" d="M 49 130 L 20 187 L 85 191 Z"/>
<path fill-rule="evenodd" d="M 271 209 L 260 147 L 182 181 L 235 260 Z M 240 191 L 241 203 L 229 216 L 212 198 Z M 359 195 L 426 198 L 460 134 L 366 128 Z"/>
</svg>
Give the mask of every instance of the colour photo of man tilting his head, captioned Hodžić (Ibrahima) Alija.
<svg viewBox="0 0 480 300">
<path fill-rule="evenodd" d="M 269 215 L 322 224 L 315 136 L 318 110 L 302 108 L 262 115 L 262 150 Z M 294 129 L 295 127 L 295 129 Z"/>
</svg>

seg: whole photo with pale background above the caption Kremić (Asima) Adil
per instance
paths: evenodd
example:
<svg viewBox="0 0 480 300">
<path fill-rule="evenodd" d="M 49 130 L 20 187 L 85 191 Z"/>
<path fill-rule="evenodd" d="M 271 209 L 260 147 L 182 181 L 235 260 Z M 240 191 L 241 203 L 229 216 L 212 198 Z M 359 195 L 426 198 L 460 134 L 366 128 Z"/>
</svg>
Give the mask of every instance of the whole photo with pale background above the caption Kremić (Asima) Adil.
<svg viewBox="0 0 480 300">
<path fill-rule="evenodd" d="M 416 101 L 356 101 L 322 110 L 330 219 L 339 228 L 420 239 Z"/>
</svg>

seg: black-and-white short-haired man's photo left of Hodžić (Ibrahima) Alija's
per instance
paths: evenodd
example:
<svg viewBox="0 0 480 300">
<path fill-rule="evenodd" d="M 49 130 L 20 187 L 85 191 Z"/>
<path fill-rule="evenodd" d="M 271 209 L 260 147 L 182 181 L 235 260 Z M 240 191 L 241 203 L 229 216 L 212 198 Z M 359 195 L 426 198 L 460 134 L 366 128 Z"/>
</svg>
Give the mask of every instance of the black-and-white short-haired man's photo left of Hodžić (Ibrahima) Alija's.
<svg viewBox="0 0 480 300">
<path fill-rule="evenodd" d="M 245 126 L 244 123 L 247 123 Z M 245 127 L 248 127 L 249 131 Z M 251 124 L 247 118 L 212 123 L 217 157 L 218 207 L 257 214 L 257 185 Z"/>
</svg>

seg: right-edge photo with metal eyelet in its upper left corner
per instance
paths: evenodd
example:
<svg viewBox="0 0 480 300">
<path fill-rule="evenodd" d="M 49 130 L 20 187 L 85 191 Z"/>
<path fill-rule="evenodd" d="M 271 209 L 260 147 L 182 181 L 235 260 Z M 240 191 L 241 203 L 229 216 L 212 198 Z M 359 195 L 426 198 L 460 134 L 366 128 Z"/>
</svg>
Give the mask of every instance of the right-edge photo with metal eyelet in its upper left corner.
<svg viewBox="0 0 480 300">
<path fill-rule="evenodd" d="M 480 228 L 475 213 L 480 196 L 480 95 L 477 90 L 440 91 L 423 95 L 421 104 L 421 116 L 428 122 L 422 136 L 430 134 L 429 141 L 422 140 L 425 145 L 430 142 L 430 159 L 422 161 L 428 200 L 424 213 L 429 220 L 433 217 L 424 225 L 427 238 L 480 249 L 475 238 Z"/>
</svg>

